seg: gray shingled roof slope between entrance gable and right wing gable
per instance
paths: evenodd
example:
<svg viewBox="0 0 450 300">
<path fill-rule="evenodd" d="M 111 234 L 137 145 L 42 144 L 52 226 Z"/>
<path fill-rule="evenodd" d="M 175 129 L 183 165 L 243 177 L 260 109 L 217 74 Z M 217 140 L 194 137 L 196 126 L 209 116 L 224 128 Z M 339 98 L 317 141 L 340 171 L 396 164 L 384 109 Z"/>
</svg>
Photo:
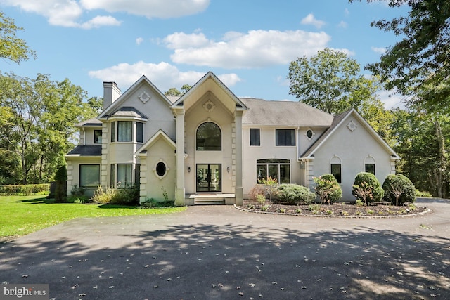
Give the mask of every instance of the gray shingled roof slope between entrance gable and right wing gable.
<svg viewBox="0 0 450 300">
<path fill-rule="evenodd" d="M 333 123 L 333 115 L 297 101 L 240 100 L 248 107 L 243 124 L 328 127 Z"/>
</svg>

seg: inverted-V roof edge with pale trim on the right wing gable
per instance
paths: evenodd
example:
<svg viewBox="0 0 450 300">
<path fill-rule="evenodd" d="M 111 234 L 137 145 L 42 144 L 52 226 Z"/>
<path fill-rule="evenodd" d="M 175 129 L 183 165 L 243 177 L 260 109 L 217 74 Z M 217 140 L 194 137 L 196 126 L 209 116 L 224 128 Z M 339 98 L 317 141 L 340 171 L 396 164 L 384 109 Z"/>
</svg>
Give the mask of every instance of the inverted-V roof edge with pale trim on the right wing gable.
<svg viewBox="0 0 450 300">
<path fill-rule="evenodd" d="M 387 145 L 387 143 L 381 138 L 381 136 L 372 128 L 371 125 L 369 125 L 366 120 L 359 115 L 354 108 L 351 110 L 347 110 L 346 112 L 342 112 L 340 115 L 335 115 L 333 118 L 333 123 L 331 126 L 321 135 L 320 138 L 318 138 L 311 147 L 304 152 L 300 159 L 305 158 L 314 158 L 314 152 L 321 148 L 321 146 L 328 140 L 328 138 L 338 129 L 338 127 L 345 122 L 346 119 L 349 118 L 350 115 L 353 115 L 358 122 L 360 122 L 369 133 L 375 138 L 375 141 L 378 141 L 380 145 L 383 146 L 387 150 L 387 152 L 390 152 L 390 155 L 392 159 L 400 159 L 400 157 L 397 155 L 397 153 L 390 147 L 390 145 Z"/>
</svg>

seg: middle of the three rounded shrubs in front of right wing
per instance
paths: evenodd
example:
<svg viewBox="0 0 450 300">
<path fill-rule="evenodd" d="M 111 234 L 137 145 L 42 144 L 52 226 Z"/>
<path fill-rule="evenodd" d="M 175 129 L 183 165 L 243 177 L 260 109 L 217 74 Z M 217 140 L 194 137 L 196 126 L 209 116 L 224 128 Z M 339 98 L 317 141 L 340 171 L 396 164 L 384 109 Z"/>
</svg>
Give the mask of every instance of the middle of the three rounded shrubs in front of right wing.
<svg viewBox="0 0 450 300">
<path fill-rule="evenodd" d="M 379 202 L 385 192 L 375 175 L 361 172 L 354 178 L 352 195 L 367 205 L 368 202 Z"/>
</svg>

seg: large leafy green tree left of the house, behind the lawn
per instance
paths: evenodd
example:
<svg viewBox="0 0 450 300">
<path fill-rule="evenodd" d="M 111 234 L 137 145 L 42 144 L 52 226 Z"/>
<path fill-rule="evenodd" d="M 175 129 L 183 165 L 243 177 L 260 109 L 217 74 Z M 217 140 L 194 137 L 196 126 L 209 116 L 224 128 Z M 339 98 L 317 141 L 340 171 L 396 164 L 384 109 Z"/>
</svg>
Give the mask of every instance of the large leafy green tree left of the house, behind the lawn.
<svg viewBox="0 0 450 300">
<path fill-rule="evenodd" d="M 86 92 L 68 79 L 56 82 L 43 74 L 36 79 L 0 74 L 0 86 L 0 107 L 9 114 L 1 150 L 20 162 L 16 177 L 22 183 L 48 182 L 73 147 L 73 125 L 91 114 L 83 102 Z M 0 157 L 0 166 L 5 159 Z"/>
</svg>

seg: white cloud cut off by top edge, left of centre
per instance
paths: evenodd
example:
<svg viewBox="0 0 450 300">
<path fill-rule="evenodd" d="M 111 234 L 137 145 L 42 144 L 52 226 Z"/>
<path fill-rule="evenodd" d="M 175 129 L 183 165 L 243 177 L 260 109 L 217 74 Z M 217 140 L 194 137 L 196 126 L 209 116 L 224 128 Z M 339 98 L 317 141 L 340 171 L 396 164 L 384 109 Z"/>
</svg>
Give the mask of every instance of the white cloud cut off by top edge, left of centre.
<svg viewBox="0 0 450 300">
<path fill-rule="evenodd" d="M 205 11 L 210 0 L 80 0 L 79 3 L 88 10 L 123 11 L 147 18 L 178 18 Z"/>
</svg>

